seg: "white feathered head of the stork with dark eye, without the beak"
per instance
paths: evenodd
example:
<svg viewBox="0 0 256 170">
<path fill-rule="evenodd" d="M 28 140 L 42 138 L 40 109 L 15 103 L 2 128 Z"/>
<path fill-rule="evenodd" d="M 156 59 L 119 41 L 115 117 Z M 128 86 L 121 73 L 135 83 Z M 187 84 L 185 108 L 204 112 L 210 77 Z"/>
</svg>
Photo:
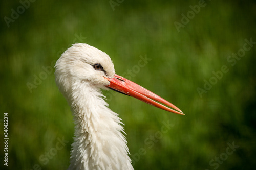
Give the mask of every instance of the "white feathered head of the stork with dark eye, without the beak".
<svg viewBox="0 0 256 170">
<path fill-rule="evenodd" d="M 55 65 L 56 82 L 67 91 L 72 83 L 86 81 L 94 86 L 105 87 L 115 75 L 111 58 L 97 48 L 75 43 L 68 48 Z"/>
</svg>

